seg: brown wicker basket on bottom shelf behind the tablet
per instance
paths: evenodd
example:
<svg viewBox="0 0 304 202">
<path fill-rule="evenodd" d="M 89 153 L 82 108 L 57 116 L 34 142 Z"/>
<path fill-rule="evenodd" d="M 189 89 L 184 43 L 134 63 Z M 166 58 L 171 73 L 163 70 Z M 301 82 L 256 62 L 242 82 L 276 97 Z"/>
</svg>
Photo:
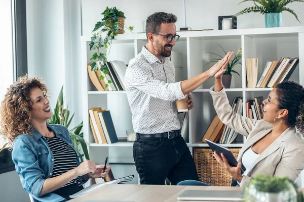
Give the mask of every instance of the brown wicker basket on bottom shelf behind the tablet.
<svg viewBox="0 0 304 202">
<path fill-rule="evenodd" d="M 241 148 L 230 148 L 235 158 Z M 194 148 L 194 162 L 201 182 L 214 186 L 230 186 L 232 176 L 213 157 L 210 148 Z"/>
</svg>

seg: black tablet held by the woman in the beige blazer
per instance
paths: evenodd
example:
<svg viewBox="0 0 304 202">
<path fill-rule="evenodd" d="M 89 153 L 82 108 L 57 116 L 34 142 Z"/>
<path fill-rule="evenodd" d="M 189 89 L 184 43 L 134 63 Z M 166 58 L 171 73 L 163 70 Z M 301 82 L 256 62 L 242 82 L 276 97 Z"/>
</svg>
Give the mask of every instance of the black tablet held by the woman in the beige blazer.
<svg viewBox="0 0 304 202">
<path fill-rule="evenodd" d="M 223 154 L 229 165 L 233 166 L 233 167 L 237 167 L 238 166 L 238 161 L 236 160 L 236 158 L 234 157 L 234 155 L 232 154 L 231 150 L 229 150 L 229 148 L 226 148 L 224 146 L 218 145 L 217 143 L 214 143 L 208 139 L 205 139 L 207 144 L 210 146 L 210 148 L 212 149 L 212 151 L 214 151 L 216 154 L 219 155 L 219 157 L 221 158 L 220 154 Z M 241 166 L 241 174 L 244 173 L 245 171 L 245 167 Z"/>
</svg>

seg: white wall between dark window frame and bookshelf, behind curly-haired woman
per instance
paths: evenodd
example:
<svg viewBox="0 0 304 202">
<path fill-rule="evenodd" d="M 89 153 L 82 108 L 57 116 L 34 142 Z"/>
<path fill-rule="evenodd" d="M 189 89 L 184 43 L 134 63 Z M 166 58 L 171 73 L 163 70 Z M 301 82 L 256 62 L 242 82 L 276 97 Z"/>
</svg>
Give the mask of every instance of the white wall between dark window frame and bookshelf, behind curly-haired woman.
<svg viewBox="0 0 304 202">
<path fill-rule="evenodd" d="M 82 121 L 80 16 L 78 0 L 26 1 L 28 75 L 45 81 L 52 109 L 64 84 L 72 127 Z"/>
</svg>

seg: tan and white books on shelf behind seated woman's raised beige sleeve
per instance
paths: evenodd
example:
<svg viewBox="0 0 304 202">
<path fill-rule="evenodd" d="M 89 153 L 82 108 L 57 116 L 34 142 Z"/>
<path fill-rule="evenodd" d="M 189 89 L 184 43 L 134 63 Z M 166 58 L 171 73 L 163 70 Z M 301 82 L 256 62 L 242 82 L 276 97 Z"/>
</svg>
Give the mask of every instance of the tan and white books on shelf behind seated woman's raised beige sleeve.
<svg viewBox="0 0 304 202">
<path fill-rule="evenodd" d="M 232 103 L 232 109 L 235 113 L 242 115 L 243 108 L 243 98 L 235 97 Z M 206 142 L 205 139 L 208 139 L 213 142 L 219 140 L 220 144 L 231 144 L 235 141 L 239 133 L 232 130 L 230 127 L 224 125 L 218 118 L 217 115 L 214 115 L 206 133 L 202 138 L 202 142 Z"/>
</svg>

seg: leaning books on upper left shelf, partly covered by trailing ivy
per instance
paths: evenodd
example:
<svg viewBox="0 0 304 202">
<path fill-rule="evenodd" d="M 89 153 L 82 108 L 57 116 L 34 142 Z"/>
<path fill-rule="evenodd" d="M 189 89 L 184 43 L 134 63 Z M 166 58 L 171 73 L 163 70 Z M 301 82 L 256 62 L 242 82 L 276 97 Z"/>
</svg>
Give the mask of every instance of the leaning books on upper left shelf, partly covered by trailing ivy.
<svg viewBox="0 0 304 202">
<path fill-rule="evenodd" d="M 122 61 L 98 62 L 98 70 L 92 71 L 91 66 L 88 66 L 89 77 L 94 86 L 99 91 L 103 90 L 126 90 L 125 74 L 127 66 Z M 101 65 L 105 65 L 105 71 L 101 71 Z"/>
</svg>

